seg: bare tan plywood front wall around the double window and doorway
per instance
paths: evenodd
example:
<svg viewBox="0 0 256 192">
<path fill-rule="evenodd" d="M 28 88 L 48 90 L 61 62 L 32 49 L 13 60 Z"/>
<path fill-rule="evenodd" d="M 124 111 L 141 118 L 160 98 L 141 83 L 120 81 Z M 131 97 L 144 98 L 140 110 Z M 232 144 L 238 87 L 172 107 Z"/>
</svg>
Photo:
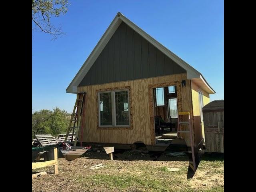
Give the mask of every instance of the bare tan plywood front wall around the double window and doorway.
<svg viewBox="0 0 256 192">
<path fill-rule="evenodd" d="M 180 101 L 180 111 L 192 112 L 190 80 L 186 79 L 186 74 L 167 75 L 139 80 L 122 81 L 107 84 L 97 84 L 78 87 L 78 92 L 86 92 L 85 118 L 82 142 L 118 143 L 133 144 L 142 141 L 147 145 L 154 145 L 154 137 L 150 123 L 150 103 L 149 85 L 177 82 L 180 85 L 182 80 L 186 80 L 186 87 L 180 88 L 177 95 Z M 130 86 L 132 105 L 132 129 L 97 128 L 97 93 L 96 90 L 118 88 Z M 152 107 L 152 106 L 151 106 Z M 154 116 L 154 114 L 152 114 Z M 151 116 L 152 116 L 151 115 Z M 81 129 L 80 129 L 81 130 Z M 79 136 L 80 141 L 80 136 Z"/>
</svg>

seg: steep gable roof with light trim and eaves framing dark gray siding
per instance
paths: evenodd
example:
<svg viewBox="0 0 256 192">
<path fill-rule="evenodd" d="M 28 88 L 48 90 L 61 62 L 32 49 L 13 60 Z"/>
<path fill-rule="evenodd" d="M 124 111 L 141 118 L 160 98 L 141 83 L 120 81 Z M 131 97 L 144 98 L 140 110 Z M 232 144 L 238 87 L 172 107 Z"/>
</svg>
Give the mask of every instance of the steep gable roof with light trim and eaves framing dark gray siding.
<svg viewBox="0 0 256 192">
<path fill-rule="evenodd" d="M 117 13 L 114 20 L 111 22 L 110 26 L 108 26 L 107 30 L 103 34 L 103 36 L 100 38 L 99 42 L 95 46 L 95 48 L 92 50 L 91 54 L 88 56 L 72 82 L 69 84 L 68 88 L 66 89 L 66 92 L 68 93 L 76 93 L 77 92 L 77 86 L 80 84 L 84 76 L 87 74 L 87 72 L 90 70 L 92 65 L 94 64 L 95 60 L 98 58 L 118 26 L 121 24 L 121 22 L 126 23 L 130 28 L 132 28 L 134 31 L 136 31 L 138 34 L 140 34 L 143 38 L 148 40 L 151 44 L 153 44 L 156 48 L 158 48 L 160 51 L 162 51 L 166 56 L 168 56 L 170 59 L 172 59 L 174 62 L 176 62 L 178 65 L 180 65 L 182 68 L 184 68 L 187 72 L 187 78 L 194 81 L 198 86 L 200 86 L 202 89 L 204 89 L 209 94 L 215 94 L 215 91 L 210 87 L 210 85 L 206 82 L 204 77 L 200 72 L 198 72 L 196 69 L 194 69 L 192 66 L 190 66 L 188 63 L 186 63 L 184 60 L 176 56 L 173 52 L 168 50 L 166 47 L 164 47 L 162 44 L 160 44 L 158 41 L 156 41 L 154 38 L 152 38 L 150 35 L 148 35 L 146 32 L 144 32 L 141 28 L 136 26 L 133 22 L 128 20 L 123 14 L 120 12 Z"/>
</svg>

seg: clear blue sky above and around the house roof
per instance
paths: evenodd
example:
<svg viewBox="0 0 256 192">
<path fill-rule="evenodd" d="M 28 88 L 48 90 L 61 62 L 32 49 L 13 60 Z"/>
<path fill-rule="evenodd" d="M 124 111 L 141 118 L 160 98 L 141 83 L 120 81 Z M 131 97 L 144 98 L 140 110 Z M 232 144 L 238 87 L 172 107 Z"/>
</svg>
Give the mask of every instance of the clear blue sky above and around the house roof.
<svg viewBox="0 0 256 192">
<path fill-rule="evenodd" d="M 66 35 L 51 41 L 32 32 L 32 111 L 56 106 L 72 112 L 75 94 L 66 93 L 110 22 L 121 12 L 201 72 L 224 99 L 223 0 L 76 0 L 68 12 L 52 18 Z"/>
</svg>

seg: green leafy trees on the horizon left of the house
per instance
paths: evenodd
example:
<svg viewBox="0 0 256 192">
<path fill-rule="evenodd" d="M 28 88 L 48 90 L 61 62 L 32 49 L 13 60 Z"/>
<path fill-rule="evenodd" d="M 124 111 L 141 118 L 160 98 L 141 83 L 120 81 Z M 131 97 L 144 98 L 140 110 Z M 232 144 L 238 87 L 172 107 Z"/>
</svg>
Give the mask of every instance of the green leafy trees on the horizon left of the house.
<svg viewBox="0 0 256 192">
<path fill-rule="evenodd" d="M 51 134 L 57 136 L 66 132 L 70 114 L 56 107 L 51 110 L 40 110 L 32 114 L 32 138 L 35 134 Z"/>
</svg>

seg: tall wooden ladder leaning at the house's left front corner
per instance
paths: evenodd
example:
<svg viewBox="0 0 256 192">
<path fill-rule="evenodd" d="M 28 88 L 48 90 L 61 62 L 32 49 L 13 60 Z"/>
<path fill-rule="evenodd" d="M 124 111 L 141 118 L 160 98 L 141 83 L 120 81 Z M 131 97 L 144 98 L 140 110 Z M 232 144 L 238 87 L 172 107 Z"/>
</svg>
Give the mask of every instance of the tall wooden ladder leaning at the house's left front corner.
<svg viewBox="0 0 256 192">
<path fill-rule="evenodd" d="M 82 112 L 83 112 L 83 107 L 84 107 L 84 102 L 85 102 L 85 96 L 86 93 L 78 93 L 77 94 L 77 99 L 75 102 L 75 106 L 70 118 L 70 122 L 67 128 L 67 134 L 65 137 L 64 142 L 67 141 L 68 138 L 68 134 L 72 131 L 72 138 L 71 138 L 71 142 L 73 142 L 73 135 L 74 135 L 74 131 L 76 129 L 76 137 L 74 139 L 74 146 L 76 146 L 76 142 L 77 142 L 77 138 L 78 138 L 78 132 L 79 132 L 79 128 L 80 128 L 80 122 L 81 122 L 81 117 L 83 116 Z M 71 124 L 73 122 L 73 126 L 71 127 Z"/>
</svg>

